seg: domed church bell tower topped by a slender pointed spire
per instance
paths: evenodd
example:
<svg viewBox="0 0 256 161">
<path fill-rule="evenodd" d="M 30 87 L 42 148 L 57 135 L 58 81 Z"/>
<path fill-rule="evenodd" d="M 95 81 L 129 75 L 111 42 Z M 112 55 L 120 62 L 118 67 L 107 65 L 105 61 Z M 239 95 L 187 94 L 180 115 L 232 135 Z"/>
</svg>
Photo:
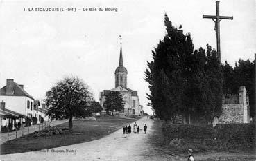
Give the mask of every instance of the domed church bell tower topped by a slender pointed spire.
<svg viewBox="0 0 256 161">
<path fill-rule="evenodd" d="M 120 40 L 121 40 L 121 36 Z M 119 66 L 114 72 L 115 75 L 115 87 L 117 86 L 123 86 L 127 87 L 127 70 L 123 66 L 123 53 L 122 53 L 122 43 L 120 42 L 120 55 L 119 55 Z"/>
</svg>

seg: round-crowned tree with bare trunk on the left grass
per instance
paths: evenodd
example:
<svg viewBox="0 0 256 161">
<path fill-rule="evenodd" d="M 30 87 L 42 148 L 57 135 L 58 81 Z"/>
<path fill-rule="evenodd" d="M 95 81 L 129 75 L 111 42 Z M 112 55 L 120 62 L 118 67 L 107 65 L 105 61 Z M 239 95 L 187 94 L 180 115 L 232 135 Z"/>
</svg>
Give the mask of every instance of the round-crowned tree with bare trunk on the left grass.
<svg viewBox="0 0 256 161">
<path fill-rule="evenodd" d="M 78 77 L 65 77 L 47 92 L 46 106 L 48 115 L 53 119 L 69 119 L 69 131 L 72 131 L 73 117 L 80 117 L 92 99 L 87 85 Z"/>
</svg>

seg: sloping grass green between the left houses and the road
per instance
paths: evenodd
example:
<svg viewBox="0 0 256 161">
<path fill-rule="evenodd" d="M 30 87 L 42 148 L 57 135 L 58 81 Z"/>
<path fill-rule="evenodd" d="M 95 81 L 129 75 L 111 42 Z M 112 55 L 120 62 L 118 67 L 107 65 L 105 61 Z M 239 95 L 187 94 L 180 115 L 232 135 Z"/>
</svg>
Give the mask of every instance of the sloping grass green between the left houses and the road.
<svg viewBox="0 0 256 161">
<path fill-rule="evenodd" d="M 73 120 L 73 131 L 63 131 L 59 135 L 35 137 L 33 134 L 24 135 L 21 138 L 3 142 L 1 144 L 1 155 L 10 153 L 23 153 L 27 151 L 38 151 L 51 149 L 59 146 L 67 146 L 82 142 L 98 140 L 105 135 L 113 133 L 122 126 L 135 122 L 129 117 L 98 117 L 94 120 Z M 57 126 L 60 129 L 68 128 L 69 122 Z"/>
</svg>

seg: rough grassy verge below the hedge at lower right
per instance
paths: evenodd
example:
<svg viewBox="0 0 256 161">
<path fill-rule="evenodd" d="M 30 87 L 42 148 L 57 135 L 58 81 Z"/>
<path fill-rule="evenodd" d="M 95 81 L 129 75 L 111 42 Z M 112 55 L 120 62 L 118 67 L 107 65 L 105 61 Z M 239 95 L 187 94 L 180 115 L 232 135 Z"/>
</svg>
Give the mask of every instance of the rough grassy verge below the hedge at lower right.
<svg viewBox="0 0 256 161">
<path fill-rule="evenodd" d="M 200 146 L 200 149 L 203 149 L 203 145 L 189 145 L 183 144 L 176 149 L 173 149 L 168 146 L 169 142 L 164 140 L 164 134 L 162 133 L 162 121 L 156 120 L 152 126 L 153 133 L 149 136 L 147 144 L 154 149 L 154 153 L 158 155 L 165 155 L 169 160 L 187 160 L 187 149 L 191 147 L 197 149 L 197 146 Z M 150 155 L 150 154 L 148 154 Z M 155 155 L 155 154 L 154 154 Z M 194 153 L 195 160 L 237 160 L 237 161 L 255 161 L 256 160 L 256 151 L 255 150 L 223 150 L 223 151 L 214 151 L 214 150 L 204 150 Z"/>
</svg>

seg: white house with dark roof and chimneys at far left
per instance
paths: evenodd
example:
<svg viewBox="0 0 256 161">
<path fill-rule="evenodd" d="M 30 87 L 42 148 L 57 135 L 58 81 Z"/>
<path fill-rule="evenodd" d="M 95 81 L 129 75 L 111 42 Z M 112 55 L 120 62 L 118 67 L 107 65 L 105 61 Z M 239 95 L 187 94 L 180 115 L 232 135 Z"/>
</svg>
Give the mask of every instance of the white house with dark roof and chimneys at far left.
<svg viewBox="0 0 256 161">
<path fill-rule="evenodd" d="M 17 84 L 13 79 L 6 79 L 6 86 L 0 89 L 1 126 L 15 125 L 24 118 L 35 115 L 34 99 L 24 90 L 24 85 Z"/>
</svg>

